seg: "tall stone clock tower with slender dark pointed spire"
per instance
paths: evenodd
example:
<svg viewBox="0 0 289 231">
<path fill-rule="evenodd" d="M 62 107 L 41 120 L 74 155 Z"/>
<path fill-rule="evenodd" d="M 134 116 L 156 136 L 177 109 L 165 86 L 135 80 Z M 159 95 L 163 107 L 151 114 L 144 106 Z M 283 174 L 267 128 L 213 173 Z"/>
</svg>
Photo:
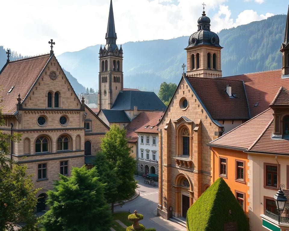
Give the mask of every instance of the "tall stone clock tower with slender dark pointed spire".
<svg viewBox="0 0 289 231">
<path fill-rule="evenodd" d="M 110 109 L 120 91 L 123 91 L 123 49 L 118 49 L 114 27 L 112 0 L 110 0 L 106 45 L 99 49 L 98 109 Z"/>
</svg>

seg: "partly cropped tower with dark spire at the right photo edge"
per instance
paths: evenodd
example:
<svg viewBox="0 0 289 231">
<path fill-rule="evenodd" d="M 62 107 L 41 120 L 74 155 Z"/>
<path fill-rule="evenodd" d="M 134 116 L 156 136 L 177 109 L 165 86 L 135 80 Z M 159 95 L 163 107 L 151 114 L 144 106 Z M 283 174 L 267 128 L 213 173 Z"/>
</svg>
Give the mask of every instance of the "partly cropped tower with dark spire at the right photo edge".
<svg viewBox="0 0 289 231">
<path fill-rule="evenodd" d="M 289 6 L 288 6 L 288 13 L 287 13 L 287 20 L 286 20 L 286 27 L 285 27 L 285 36 L 284 42 L 281 44 L 281 52 L 282 52 L 282 74 L 289 75 Z"/>
</svg>

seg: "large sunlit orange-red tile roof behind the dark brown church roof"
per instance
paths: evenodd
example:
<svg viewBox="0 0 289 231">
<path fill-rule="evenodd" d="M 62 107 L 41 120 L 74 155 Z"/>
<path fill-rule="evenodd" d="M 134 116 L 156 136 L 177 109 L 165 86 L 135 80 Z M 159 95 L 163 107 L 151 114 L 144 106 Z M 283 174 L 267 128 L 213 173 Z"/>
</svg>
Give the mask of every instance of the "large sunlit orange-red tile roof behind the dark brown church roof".
<svg viewBox="0 0 289 231">
<path fill-rule="evenodd" d="M 222 79 L 244 81 L 251 117 L 269 107 L 281 86 L 289 89 L 289 78 L 282 79 L 282 69 L 228 76 Z M 254 106 L 257 103 L 258 106 Z"/>
</svg>

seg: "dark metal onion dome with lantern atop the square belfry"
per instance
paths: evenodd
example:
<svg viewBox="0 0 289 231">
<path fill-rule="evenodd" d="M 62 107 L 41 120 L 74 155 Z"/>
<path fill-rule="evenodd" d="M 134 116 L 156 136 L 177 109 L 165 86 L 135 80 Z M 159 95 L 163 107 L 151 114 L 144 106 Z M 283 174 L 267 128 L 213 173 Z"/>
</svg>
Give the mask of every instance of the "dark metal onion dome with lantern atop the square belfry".
<svg viewBox="0 0 289 231">
<path fill-rule="evenodd" d="M 210 30 L 210 22 L 210 18 L 203 11 L 202 16 L 198 19 L 198 31 L 190 36 L 187 48 L 199 45 L 221 47 L 219 36 Z"/>
</svg>

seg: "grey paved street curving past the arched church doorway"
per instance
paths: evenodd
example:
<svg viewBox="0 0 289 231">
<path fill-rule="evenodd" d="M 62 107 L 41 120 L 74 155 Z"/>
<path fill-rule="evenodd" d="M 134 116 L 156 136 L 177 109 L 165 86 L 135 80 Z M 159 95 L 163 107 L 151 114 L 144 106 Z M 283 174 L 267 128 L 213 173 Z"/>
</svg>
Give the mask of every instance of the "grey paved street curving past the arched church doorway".
<svg viewBox="0 0 289 231">
<path fill-rule="evenodd" d="M 159 196 L 158 184 L 156 184 L 156 186 L 144 184 L 144 178 L 142 177 L 135 176 L 135 180 L 138 180 L 138 185 L 140 186 L 138 191 L 140 195 L 136 199 L 127 202 L 122 207 L 116 206 L 114 209 L 115 212 L 129 210 L 130 212 L 133 212 L 134 210 L 137 210 L 138 213 L 144 215 L 144 219 L 141 220 L 140 223 L 146 228 L 156 228 L 157 231 L 186 230 L 185 227 L 179 227 L 178 224 L 156 218 Z M 157 223 L 151 220 L 151 218 L 153 218 L 154 221 L 157 221 Z M 161 226 L 160 224 L 164 225 Z"/>
</svg>

